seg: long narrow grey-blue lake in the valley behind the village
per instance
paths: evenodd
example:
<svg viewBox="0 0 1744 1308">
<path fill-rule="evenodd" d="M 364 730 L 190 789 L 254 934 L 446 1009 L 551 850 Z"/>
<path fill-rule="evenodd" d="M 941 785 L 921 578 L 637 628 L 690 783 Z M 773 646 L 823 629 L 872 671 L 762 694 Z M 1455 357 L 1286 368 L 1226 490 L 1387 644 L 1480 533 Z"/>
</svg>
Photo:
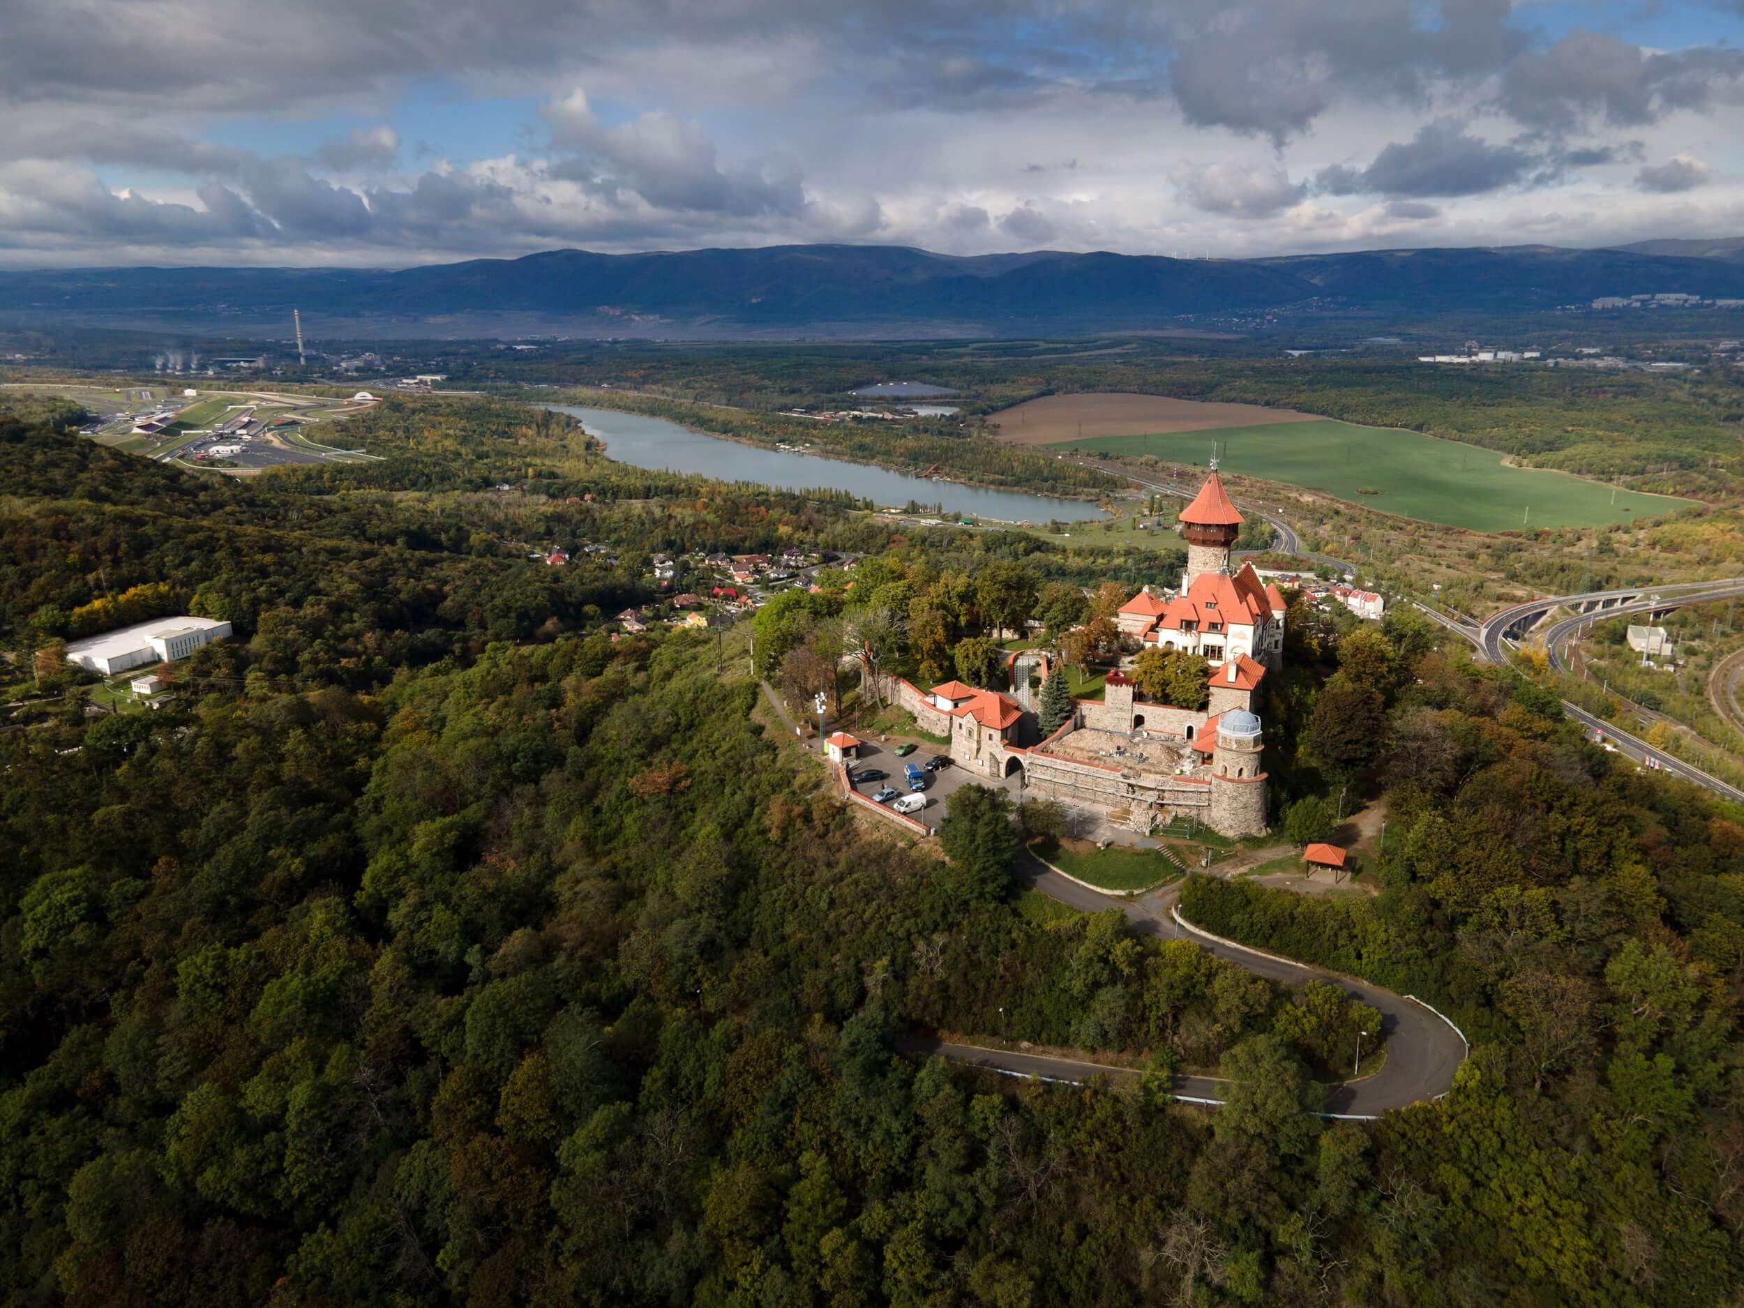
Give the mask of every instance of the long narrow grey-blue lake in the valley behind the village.
<svg viewBox="0 0 1744 1308">
<path fill-rule="evenodd" d="M 902 508 L 910 499 L 916 504 L 942 502 L 947 511 L 998 518 L 999 521 L 1045 523 L 1050 518 L 1088 521 L 1104 516 L 1102 509 L 1088 501 L 1029 495 L 1020 490 L 959 487 L 954 481 L 931 481 L 924 476 L 891 473 L 846 459 L 741 445 L 642 413 L 619 413 L 610 408 L 579 405 L 546 405 L 546 408 L 577 419 L 589 436 L 605 441 L 609 457 L 635 467 L 696 473 L 720 481 L 759 481 L 783 490 L 828 487 L 879 506 Z"/>
</svg>

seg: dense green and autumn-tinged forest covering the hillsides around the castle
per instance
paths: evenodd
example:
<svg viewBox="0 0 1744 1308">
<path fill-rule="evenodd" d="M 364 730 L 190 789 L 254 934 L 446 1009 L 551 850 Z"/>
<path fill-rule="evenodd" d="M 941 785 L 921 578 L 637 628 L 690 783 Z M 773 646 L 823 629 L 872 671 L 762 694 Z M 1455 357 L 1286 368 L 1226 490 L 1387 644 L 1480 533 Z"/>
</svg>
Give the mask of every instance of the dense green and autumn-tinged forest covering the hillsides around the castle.
<svg viewBox="0 0 1744 1308">
<path fill-rule="evenodd" d="M 1184 903 L 1474 1041 L 1448 1097 L 1322 1120 L 1366 1020 L 1334 987 L 1020 893 L 991 804 L 949 856 L 856 823 L 743 631 L 595 630 L 649 549 L 834 544 L 855 584 L 766 607 L 762 671 L 846 633 L 949 671 L 1018 614 L 1093 624 L 1106 560 L 413 408 L 384 466 L 246 483 L 0 422 L 14 668 L 140 586 L 239 605 L 173 706 L 0 731 L 0 1303 L 1737 1299 L 1744 814 L 1407 616 L 1292 602 L 1273 807 L 1313 839 L 1385 802 L 1381 893 Z M 520 553 L 556 527 L 621 563 Z M 931 1031 L 1144 1074 L 902 1053 Z M 1226 1107 L 1168 1102 L 1209 1067 Z"/>
</svg>

